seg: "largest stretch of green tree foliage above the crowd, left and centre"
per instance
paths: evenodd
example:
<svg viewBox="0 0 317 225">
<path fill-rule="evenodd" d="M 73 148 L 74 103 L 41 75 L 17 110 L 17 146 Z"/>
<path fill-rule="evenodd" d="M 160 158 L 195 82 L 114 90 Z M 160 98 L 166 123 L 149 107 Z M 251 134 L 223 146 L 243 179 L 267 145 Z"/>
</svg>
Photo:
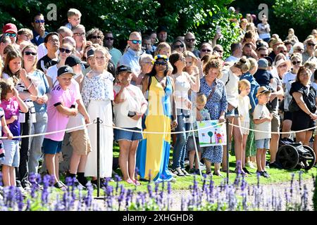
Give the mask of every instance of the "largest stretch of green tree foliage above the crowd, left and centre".
<svg viewBox="0 0 317 225">
<path fill-rule="evenodd" d="M 111 30 L 116 35 L 116 44 L 124 46 L 132 31 L 144 32 L 156 30 L 159 25 L 168 27 L 168 41 L 191 31 L 197 42 L 211 41 L 216 34 L 216 26 L 221 27 L 222 44 L 226 55 L 230 53 L 230 44 L 239 41 L 239 29 L 234 23 L 240 15 L 230 13 L 228 4 L 233 0 L 68 0 L 56 1 L 57 21 L 46 19 L 47 30 L 56 30 L 67 23 L 66 13 L 69 8 L 77 8 L 82 13 L 82 24 L 90 29 L 99 27 Z M 2 1 L 0 25 L 15 23 L 18 28 L 30 27 L 32 17 L 37 12 L 49 13 L 51 0 L 15 0 Z"/>
</svg>

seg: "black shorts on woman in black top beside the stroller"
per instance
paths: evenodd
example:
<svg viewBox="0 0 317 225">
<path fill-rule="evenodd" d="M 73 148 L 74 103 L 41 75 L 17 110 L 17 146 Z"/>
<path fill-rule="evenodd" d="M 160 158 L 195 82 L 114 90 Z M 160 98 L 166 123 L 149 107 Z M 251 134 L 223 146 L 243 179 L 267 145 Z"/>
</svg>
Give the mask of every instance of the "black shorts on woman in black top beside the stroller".
<svg viewBox="0 0 317 225">
<path fill-rule="evenodd" d="M 292 113 L 292 131 L 300 131 L 302 129 L 313 128 L 316 122 L 302 110 Z M 313 129 L 311 129 L 313 131 Z"/>
</svg>

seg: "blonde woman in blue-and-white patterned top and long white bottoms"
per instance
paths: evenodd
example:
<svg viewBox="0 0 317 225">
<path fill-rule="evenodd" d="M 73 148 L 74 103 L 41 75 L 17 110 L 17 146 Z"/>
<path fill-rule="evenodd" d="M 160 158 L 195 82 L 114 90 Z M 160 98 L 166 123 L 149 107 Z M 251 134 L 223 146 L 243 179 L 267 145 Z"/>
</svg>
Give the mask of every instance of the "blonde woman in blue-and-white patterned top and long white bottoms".
<svg viewBox="0 0 317 225">
<path fill-rule="evenodd" d="M 107 72 L 110 54 L 104 47 L 94 51 L 94 68 L 87 73 L 82 84 L 82 100 L 92 121 L 100 118 L 100 177 L 111 177 L 113 158 L 113 76 Z M 106 127 L 106 126 L 110 127 Z M 97 184 L 97 126 L 87 127 L 92 152 L 89 153 L 85 176 L 92 176 L 92 184 Z M 101 182 L 102 185 L 103 182 Z"/>
</svg>

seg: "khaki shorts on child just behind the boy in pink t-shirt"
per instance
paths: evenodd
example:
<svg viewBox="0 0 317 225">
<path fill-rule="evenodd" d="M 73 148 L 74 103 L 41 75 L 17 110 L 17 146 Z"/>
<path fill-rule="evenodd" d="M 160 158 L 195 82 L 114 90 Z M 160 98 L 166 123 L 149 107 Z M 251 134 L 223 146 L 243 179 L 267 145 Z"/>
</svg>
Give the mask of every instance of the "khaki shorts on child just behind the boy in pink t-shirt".
<svg viewBox="0 0 317 225">
<path fill-rule="evenodd" d="M 87 155 L 92 151 L 87 129 L 70 132 L 69 142 L 73 147 L 73 151 L 78 155 Z"/>
</svg>

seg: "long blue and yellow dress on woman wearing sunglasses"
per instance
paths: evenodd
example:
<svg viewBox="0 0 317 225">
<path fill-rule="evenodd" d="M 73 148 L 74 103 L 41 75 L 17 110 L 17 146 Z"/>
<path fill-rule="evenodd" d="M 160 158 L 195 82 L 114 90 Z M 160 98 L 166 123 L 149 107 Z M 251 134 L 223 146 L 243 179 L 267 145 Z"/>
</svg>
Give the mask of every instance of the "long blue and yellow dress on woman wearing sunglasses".
<svg viewBox="0 0 317 225">
<path fill-rule="evenodd" d="M 166 77 L 165 89 L 156 77 L 150 79 L 149 107 L 144 131 L 170 132 L 170 98 L 173 94 L 170 77 Z M 144 134 L 144 139 L 139 142 L 137 148 L 136 167 L 139 169 L 140 179 L 156 182 L 173 179 L 168 171 L 169 157 L 170 134 Z"/>
</svg>

